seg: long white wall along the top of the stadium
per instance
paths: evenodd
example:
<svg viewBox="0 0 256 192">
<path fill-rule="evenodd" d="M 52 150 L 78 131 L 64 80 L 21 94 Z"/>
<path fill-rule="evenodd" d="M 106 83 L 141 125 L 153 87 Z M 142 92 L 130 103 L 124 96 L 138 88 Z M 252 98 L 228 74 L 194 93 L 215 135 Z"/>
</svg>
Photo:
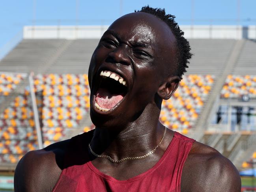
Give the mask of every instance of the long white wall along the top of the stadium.
<svg viewBox="0 0 256 192">
<path fill-rule="evenodd" d="M 256 26 L 181 25 L 188 39 L 256 39 Z M 24 26 L 24 39 L 99 39 L 102 26 Z"/>
</svg>

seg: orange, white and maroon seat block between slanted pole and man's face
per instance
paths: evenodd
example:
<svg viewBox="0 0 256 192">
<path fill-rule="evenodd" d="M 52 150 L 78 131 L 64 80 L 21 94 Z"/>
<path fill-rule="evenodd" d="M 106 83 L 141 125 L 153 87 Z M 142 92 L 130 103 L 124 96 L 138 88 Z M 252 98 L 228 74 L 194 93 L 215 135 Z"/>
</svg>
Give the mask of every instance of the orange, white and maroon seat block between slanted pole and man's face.
<svg viewBox="0 0 256 192">
<path fill-rule="evenodd" d="M 90 107 L 88 76 L 37 75 L 36 90 L 43 91 L 43 139 L 44 145 L 63 140 L 70 128 L 77 128 Z"/>
</svg>

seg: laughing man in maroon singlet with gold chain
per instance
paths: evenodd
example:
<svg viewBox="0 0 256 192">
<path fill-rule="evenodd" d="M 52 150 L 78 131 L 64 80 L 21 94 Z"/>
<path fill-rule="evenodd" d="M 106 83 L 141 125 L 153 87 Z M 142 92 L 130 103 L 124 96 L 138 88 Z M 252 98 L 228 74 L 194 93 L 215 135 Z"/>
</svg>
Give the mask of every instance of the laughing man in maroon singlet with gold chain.
<svg viewBox="0 0 256 192">
<path fill-rule="evenodd" d="M 15 171 L 15 191 L 241 191 L 227 158 L 159 122 L 189 51 L 164 9 L 142 7 L 117 19 L 88 73 L 96 129 L 27 153 Z"/>
</svg>

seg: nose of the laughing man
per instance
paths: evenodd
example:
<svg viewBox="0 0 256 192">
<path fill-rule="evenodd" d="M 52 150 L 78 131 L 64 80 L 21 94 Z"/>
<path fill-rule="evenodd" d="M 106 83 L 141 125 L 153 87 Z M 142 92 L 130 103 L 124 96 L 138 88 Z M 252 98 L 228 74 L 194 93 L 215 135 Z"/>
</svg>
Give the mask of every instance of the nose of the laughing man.
<svg viewBox="0 0 256 192">
<path fill-rule="evenodd" d="M 129 65 L 131 63 L 131 60 L 129 58 L 129 49 L 130 48 L 128 45 L 120 45 L 108 54 L 106 62 Z"/>
</svg>

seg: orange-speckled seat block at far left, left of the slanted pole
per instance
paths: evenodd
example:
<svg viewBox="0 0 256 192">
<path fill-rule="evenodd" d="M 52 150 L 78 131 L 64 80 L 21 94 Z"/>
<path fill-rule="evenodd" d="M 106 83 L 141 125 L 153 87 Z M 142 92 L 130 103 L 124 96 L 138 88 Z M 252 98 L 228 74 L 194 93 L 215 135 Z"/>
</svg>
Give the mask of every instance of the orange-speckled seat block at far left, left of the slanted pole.
<svg viewBox="0 0 256 192">
<path fill-rule="evenodd" d="M 1 97 L 13 94 L 15 96 L 14 101 L 11 101 L 9 106 L 0 113 L 0 162 L 17 163 L 24 153 L 37 149 L 31 99 L 26 90 L 22 94 L 13 93 L 26 75 L 1 73 L 0 77 L 1 88 L 11 87 L 0 91 Z M 6 100 L 3 99 L 2 102 L 6 103 Z M 3 105 L 2 102 L 1 105 Z M 37 105 L 40 114 L 42 109 L 40 92 L 37 94 Z"/>
</svg>

